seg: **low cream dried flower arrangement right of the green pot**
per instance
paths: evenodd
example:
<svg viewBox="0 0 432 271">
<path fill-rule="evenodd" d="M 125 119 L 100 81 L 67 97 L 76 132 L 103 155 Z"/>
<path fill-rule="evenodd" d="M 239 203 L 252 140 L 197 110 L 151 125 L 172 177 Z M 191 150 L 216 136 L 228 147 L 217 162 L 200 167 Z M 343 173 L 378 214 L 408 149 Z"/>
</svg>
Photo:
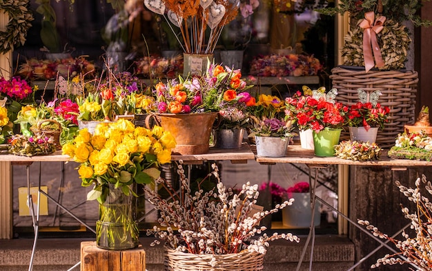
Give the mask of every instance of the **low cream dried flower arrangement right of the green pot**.
<svg viewBox="0 0 432 271">
<path fill-rule="evenodd" d="M 376 143 L 342 141 L 335 145 L 336 157 L 353 161 L 380 160 L 381 148 Z"/>
</svg>

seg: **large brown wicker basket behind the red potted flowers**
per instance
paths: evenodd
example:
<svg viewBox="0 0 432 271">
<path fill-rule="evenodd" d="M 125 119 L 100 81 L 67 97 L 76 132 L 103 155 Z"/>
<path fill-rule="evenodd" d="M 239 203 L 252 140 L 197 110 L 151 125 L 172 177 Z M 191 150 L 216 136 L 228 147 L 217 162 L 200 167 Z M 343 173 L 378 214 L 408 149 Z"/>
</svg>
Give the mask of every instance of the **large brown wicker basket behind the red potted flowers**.
<svg viewBox="0 0 432 271">
<path fill-rule="evenodd" d="M 357 89 L 366 92 L 380 90 L 382 95 L 378 100 L 382 106 L 388 106 L 389 122 L 385 123 L 384 130 L 377 134 L 376 143 L 381 148 L 391 148 L 395 145 L 397 134 L 404 132 L 404 126 L 414 123 L 415 120 L 415 94 L 417 93 L 418 73 L 414 71 L 400 72 L 397 70 L 378 71 L 351 70 L 337 67 L 331 70 L 330 79 L 333 88 L 337 88 L 337 101 L 351 106 L 359 101 Z M 346 129 L 341 134 L 341 140 L 348 140 L 349 132 Z"/>
</svg>

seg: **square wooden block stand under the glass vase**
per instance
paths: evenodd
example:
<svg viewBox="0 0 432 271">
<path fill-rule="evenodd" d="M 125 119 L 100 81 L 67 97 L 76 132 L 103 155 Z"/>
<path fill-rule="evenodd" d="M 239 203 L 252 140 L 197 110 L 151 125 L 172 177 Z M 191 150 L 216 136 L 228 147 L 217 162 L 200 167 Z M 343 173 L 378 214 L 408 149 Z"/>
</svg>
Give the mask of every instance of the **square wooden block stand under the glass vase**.
<svg viewBox="0 0 432 271">
<path fill-rule="evenodd" d="M 81 271 L 145 271 L 142 245 L 131 250 L 103 250 L 95 241 L 81 242 Z"/>
</svg>

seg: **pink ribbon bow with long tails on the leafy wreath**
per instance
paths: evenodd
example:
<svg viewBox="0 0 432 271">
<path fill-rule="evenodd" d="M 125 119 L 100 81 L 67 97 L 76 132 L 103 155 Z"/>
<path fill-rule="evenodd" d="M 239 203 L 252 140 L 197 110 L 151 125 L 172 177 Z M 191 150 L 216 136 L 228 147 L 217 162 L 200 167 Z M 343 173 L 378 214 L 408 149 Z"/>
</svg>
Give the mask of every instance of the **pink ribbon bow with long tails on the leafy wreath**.
<svg viewBox="0 0 432 271">
<path fill-rule="evenodd" d="M 375 24 L 374 24 L 375 21 Z M 364 14 L 364 19 L 360 23 L 360 27 L 364 29 L 363 31 L 363 58 L 364 58 L 364 68 L 366 68 L 366 72 L 369 72 L 375 63 L 372 57 L 375 57 L 375 62 L 377 68 L 384 67 L 384 61 L 382 60 L 380 46 L 377 41 L 377 34 L 381 32 L 384 28 L 382 26 L 386 21 L 386 17 L 380 16 L 375 20 L 375 14 L 373 11 L 366 12 Z"/>
</svg>

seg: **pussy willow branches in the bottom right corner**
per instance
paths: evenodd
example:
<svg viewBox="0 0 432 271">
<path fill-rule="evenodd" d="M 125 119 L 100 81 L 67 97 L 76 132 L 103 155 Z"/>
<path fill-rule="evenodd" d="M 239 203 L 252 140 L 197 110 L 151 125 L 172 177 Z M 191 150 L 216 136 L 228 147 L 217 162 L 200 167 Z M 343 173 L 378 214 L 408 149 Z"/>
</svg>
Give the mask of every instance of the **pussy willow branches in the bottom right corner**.
<svg viewBox="0 0 432 271">
<path fill-rule="evenodd" d="M 377 259 L 377 262 L 371 265 L 371 268 L 377 268 L 380 265 L 408 263 L 413 265 L 413 267 L 416 268 L 415 270 L 431 270 L 432 257 L 430 244 L 432 241 L 432 205 L 430 200 L 422 195 L 422 188 L 420 188 L 420 185 L 424 185 L 426 191 L 432 194 L 432 183 L 427 181 L 424 175 L 422 175 L 421 179 L 418 178 L 415 181 L 415 188 L 407 188 L 402 185 L 400 181 L 396 181 L 395 183 L 400 192 L 404 194 L 409 201 L 415 203 L 415 211 L 413 213 L 410 212 L 409 208 L 402 206 L 402 214 L 404 214 L 406 219 L 411 221 L 411 229 L 415 231 L 415 235 L 412 236 L 407 232 L 402 232 L 404 240 L 397 240 L 378 230 L 378 228 L 369 221 L 358 221 L 360 225 L 364 225 L 367 230 L 370 230 L 375 237 L 391 241 L 391 243 L 400 250 L 400 252 L 395 254 L 386 254 L 381 259 Z M 409 269 L 413 270 L 412 268 Z"/>
</svg>

